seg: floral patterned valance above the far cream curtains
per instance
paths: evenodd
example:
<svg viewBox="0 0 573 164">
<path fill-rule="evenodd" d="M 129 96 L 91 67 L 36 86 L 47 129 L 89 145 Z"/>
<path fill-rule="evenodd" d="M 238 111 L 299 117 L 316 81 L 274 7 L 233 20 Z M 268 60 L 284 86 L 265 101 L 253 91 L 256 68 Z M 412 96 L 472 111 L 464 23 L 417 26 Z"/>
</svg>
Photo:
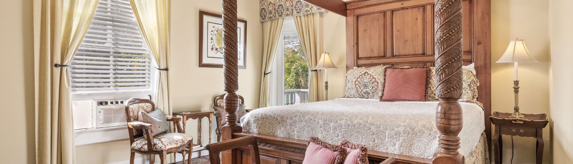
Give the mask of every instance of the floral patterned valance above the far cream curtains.
<svg viewBox="0 0 573 164">
<path fill-rule="evenodd" d="M 261 22 L 324 11 L 323 8 L 301 0 L 260 0 Z"/>
</svg>

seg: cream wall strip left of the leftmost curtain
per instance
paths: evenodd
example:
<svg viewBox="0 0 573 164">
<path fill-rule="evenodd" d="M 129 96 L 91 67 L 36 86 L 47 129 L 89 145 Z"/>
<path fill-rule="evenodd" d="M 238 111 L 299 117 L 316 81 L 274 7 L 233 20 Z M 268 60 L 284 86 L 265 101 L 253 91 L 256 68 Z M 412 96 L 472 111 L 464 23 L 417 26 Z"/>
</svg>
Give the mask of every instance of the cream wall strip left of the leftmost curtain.
<svg viewBox="0 0 573 164">
<path fill-rule="evenodd" d="M 2 3 L 0 104 L 3 119 L 0 119 L 0 163 L 36 163 L 32 0 Z"/>
</svg>

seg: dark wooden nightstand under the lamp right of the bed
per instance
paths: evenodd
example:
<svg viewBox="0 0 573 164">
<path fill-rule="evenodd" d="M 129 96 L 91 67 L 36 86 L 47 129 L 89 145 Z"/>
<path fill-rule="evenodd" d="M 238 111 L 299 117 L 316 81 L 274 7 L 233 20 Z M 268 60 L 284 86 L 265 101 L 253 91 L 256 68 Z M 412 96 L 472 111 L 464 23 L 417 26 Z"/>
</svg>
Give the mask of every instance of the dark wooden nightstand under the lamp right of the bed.
<svg viewBox="0 0 573 164">
<path fill-rule="evenodd" d="M 547 126 L 549 120 L 545 114 L 523 114 L 525 119 L 509 119 L 510 113 L 494 112 L 489 119 L 495 126 L 493 131 L 493 151 L 495 163 L 501 163 L 503 151 L 503 142 L 501 135 L 526 136 L 537 139 L 536 144 L 536 162 L 541 164 L 543 161 L 543 128 Z"/>
</svg>

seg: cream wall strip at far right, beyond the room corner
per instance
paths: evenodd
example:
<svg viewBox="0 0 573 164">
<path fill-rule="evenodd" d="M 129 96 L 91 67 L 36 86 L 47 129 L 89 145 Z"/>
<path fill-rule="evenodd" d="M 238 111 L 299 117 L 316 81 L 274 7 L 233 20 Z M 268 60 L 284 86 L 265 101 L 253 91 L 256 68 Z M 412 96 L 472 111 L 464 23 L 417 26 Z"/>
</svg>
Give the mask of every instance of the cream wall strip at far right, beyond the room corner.
<svg viewBox="0 0 573 164">
<path fill-rule="evenodd" d="M 573 1 L 551 0 L 549 2 L 549 37 L 551 42 L 550 103 L 552 119 L 553 162 L 573 163 Z"/>
</svg>

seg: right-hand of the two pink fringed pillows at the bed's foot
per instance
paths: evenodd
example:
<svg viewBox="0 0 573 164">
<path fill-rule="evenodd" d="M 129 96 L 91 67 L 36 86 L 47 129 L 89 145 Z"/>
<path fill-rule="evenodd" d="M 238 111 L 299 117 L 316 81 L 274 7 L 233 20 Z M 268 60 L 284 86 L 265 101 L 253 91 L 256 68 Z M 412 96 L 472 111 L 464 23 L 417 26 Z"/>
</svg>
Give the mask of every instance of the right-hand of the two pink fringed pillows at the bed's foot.
<svg viewBox="0 0 573 164">
<path fill-rule="evenodd" d="M 344 139 L 340 146 L 346 149 L 346 159 L 344 164 L 367 164 L 368 163 L 368 149 L 364 145 L 355 145 L 350 141 Z"/>
</svg>

